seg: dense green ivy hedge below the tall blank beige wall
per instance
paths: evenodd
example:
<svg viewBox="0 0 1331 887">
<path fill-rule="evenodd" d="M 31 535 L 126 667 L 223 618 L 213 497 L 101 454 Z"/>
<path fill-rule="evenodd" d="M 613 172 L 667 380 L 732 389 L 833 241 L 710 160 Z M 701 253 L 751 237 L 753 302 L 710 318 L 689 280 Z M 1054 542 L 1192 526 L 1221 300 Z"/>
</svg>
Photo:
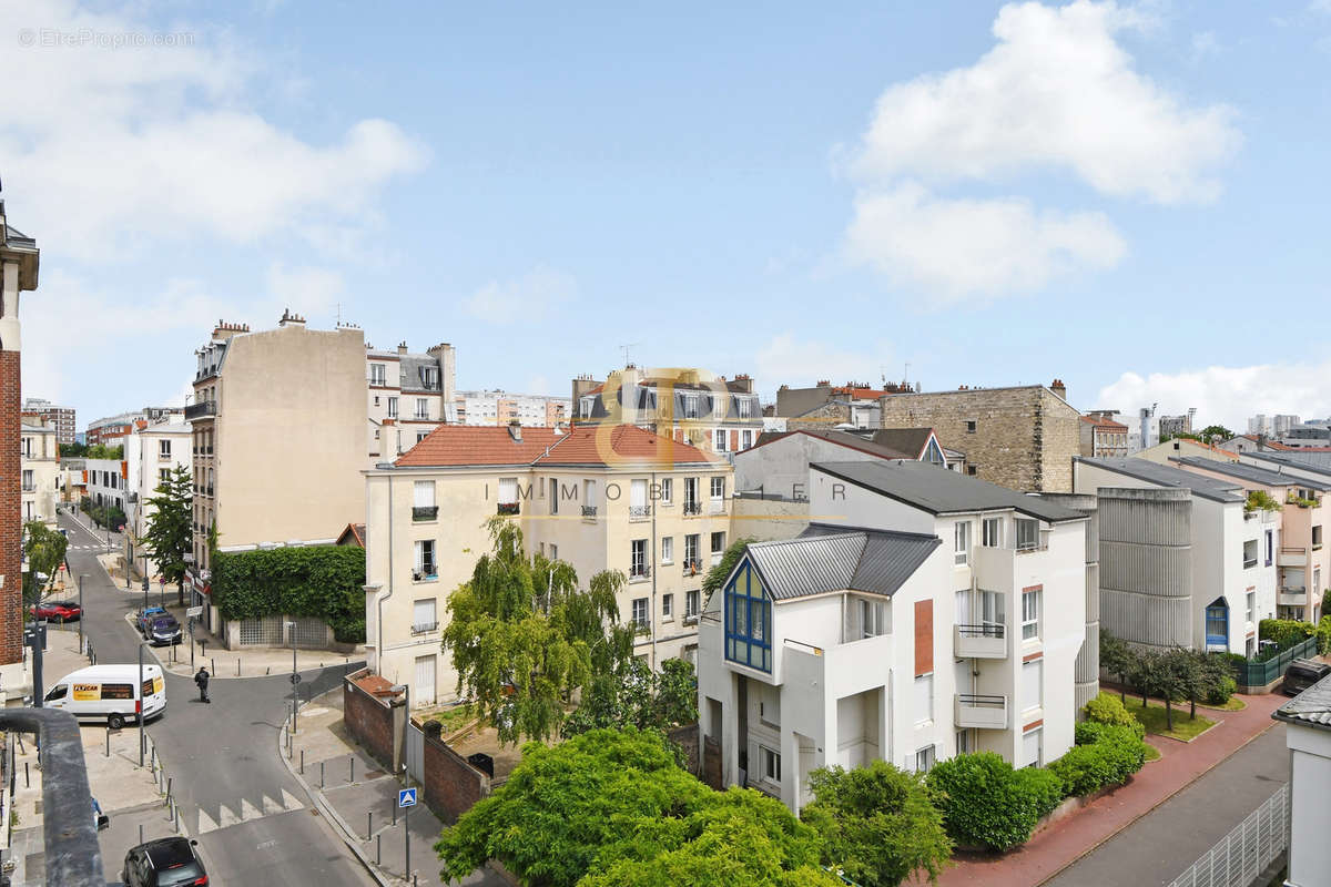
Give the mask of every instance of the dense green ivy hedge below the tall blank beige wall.
<svg viewBox="0 0 1331 887">
<path fill-rule="evenodd" d="M 217 552 L 213 604 L 228 620 L 314 616 L 365 642 L 365 549 L 355 545 Z"/>
</svg>

